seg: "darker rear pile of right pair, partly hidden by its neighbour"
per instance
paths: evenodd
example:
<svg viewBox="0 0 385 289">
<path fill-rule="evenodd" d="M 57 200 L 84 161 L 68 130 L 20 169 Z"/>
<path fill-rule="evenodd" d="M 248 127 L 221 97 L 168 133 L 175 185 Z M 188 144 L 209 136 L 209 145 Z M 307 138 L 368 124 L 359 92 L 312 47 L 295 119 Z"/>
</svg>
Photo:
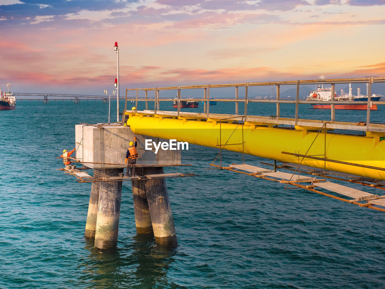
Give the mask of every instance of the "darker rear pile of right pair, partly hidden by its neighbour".
<svg viewBox="0 0 385 289">
<path fill-rule="evenodd" d="M 136 168 L 138 176 L 144 176 L 143 168 Z M 134 202 L 137 234 L 152 233 L 150 209 L 147 202 L 145 180 L 132 180 L 132 200 Z"/>
</svg>

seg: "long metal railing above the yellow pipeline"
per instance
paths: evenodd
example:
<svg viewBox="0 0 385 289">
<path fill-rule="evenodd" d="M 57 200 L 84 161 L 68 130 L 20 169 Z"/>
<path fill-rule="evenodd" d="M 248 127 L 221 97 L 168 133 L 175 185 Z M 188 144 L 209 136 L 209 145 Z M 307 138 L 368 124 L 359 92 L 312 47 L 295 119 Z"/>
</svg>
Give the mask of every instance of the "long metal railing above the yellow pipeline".
<svg viewBox="0 0 385 289">
<path fill-rule="evenodd" d="M 146 102 L 146 110 L 148 110 L 148 102 L 154 101 L 154 114 L 159 111 L 161 101 L 177 101 L 177 116 L 181 112 L 181 89 L 203 89 L 203 98 L 196 99 L 193 101 L 203 101 L 203 113 L 207 114 L 209 118 L 209 102 L 210 101 L 226 101 L 235 102 L 235 114 L 238 115 L 239 102 L 244 103 L 244 121 L 247 121 L 247 106 L 249 102 L 262 102 L 262 103 L 275 103 L 276 104 L 276 118 L 280 117 L 280 104 L 291 103 L 295 104 L 295 125 L 298 123 L 298 105 L 299 104 L 330 104 L 331 105 L 331 121 L 335 121 L 335 105 L 336 104 L 363 104 L 367 105 L 367 131 L 370 131 L 370 108 L 372 107 L 373 101 L 372 96 L 372 83 L 385 82 L 385 77 L 362 77 L 362 78 L 343 78 L 343 79 L 313 79 L 313 80 L 295 80 L 295 81 L 272 81 L 272 82 L 245 82 L 245 83 L 231 83 L 231 84 L 201 84 L 201 85 L 187 85 L 187 86 L 169 86 L 169 87 L 152 87 L 152 88 L 133 88 L 126 89 L 126 105 L 125 111 L 127 111 L 127 101 L 135 101 L 137 107 L 138 101 Z M 335 100 L 335 84 L 347 84 L 347 83 L 368 83 L 368 101 L 336 101 Z M 304 84 L 330 84 L 331 85 L 331 101 L 303 101 L 299 99 L 300 85 Z M 248 87 L 250 86 L 276 86 L 276 99 L 249 99 L 248 98 Z M 282 85 L 296 85 L 296 98 L 295 100 L 283 100 L 280 99 L 280 86 Z M 235 98 L 210 98 L 211 88 L 223 88 L 223 87 L 234 87 Z M 245 87 L 244 98 L 239 98 L 238 87 Z M 160 91 L 176 90 L 176 99 L 160 98 Z M 128 91 L 136 91 L 135 98 L 128 98 Z M 138 92 L 144 91 L 145 97 L 138 97 Z M 148 91 L 154 91 L 154 98 L 148 97 Z M 187 99 L 182 99 L 186 101 Z M 376 101 L 375 104 L 383 105 L 385 101 Z M 151 111 L 151 110 L 150 110 Z"/>
</svg>

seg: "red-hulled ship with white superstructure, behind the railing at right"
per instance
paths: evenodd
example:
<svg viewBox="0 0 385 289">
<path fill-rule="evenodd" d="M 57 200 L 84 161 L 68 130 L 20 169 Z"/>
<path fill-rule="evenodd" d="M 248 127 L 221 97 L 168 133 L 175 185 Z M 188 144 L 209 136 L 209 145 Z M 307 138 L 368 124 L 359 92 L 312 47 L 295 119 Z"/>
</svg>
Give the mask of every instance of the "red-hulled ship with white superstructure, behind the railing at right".
<svg viewBox="0 0 385 289">
<path fill-rule="evenodd" d="M 325 76 L 320 76 L 324 79 Z M 382 95 L 372 94 L 371 101 L 379 101 Z M 355 110 L 367 110 L 367 104 L 343 104 L 344 101 L 368 101 L 368 96 L 360 95 L 360 88 L 357 89 L 357 96 L 352 94 L 352 86 L 349 84 L 349 94 L 344 94 L 341 89 L 341 95 L 334 94 L 335 101 L 340 101 L 341 104 L 335 104 L 335 109 L 355 109 Z M 307 99 L 308 101 L 319 101 L 320 104 L 311 104 L 313 108 L 317 109 L 331 109 L 331 104 L 321 104 L 322 101 L 331 101 L 331 87 L 323 87 L 318 84 L 318 88 L 315 91 L 310 91 Z M 370 110 L 377 110 L 377 105 L 372 104 Z"/>
</svg>

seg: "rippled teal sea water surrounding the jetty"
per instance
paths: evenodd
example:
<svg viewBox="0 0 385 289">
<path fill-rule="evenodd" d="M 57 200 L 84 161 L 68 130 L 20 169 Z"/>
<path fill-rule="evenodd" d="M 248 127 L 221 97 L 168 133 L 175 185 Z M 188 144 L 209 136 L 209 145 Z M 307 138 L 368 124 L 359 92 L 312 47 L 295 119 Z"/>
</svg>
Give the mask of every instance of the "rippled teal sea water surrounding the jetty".
<svg viewBox="0 0 385 289">
<path fill-rule="evenodd" d="M 385 123 L 384 109 L 371 120 Z M 210 111 L 234 113 L 234 104 L 218 102 Z M 366 121 L 365 113 L 336 111 L 336 119 Z M 275 114 L 275 105 L 249 104 L 248 114 Z M 293 116 L 294 107 L 281 105 L 281 115 Z M 330 111 L 310 105 L 299 115 L 330 119 Z M 1 289 L 385 287 L 385 213 L 207 170 L 218 150 L 194 145 L 182 154 L 192 166 L 180 170 L 200 176 L 167 179 L 178 247 L 136 235 L 131 182 L 124 182 L 117 248 L 95 249 L 84 238 L 91 184 L 58 171 L 55 157 L 74 148 L 75 124 L 107 120 L 101 101 L 19 100 L 15 110 L 0 111 Z M 223 161 L 241 162 L 242 155 L 225 152 Z M 260 161 L 245 156 L 246 163 Z"/>
</svg>

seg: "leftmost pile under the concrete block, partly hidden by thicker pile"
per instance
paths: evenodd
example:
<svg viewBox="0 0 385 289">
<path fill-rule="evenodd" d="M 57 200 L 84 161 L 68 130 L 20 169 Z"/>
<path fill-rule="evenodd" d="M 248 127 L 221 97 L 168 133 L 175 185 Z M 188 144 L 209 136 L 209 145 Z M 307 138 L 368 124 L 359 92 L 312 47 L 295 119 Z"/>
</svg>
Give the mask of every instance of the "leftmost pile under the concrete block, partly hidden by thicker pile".
<svg viewBox="0 0 385 289">
<path fill-rule="evenodd" d="M 101 169 L 94 170 L 94 177 L 100 178 L 102 175 Z M 85 223 L 85 234 L 86 238 L 95 238 L 97 210 L 99 205 L 99 188 L 100 182 L 92 183 L 90 202 L 88 204 L 87 222 Z"/>
</svg>

